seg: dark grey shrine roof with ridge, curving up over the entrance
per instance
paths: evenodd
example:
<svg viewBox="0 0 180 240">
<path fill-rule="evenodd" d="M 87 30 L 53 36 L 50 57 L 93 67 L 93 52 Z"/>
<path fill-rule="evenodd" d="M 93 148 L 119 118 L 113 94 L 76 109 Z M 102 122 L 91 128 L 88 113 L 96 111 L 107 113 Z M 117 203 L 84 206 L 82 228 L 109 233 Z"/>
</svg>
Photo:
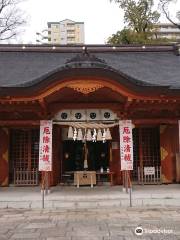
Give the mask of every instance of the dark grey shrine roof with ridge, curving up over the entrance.
<svg viewBox="0 0 180 240">
<path fill-rule="evenodd" d="M 84 51 L 89 58 L 82 57 Z M 92 56 L 103 64 L 92 64 Z M 76 58 L 76 65 L 69 65 Z M 1 89 L 33 86 L 66 68 L 104 69 L 126 76 L 134 86 L 180 90 L 180 56 L 173 45 L 0 45 Z"/>
</svg>

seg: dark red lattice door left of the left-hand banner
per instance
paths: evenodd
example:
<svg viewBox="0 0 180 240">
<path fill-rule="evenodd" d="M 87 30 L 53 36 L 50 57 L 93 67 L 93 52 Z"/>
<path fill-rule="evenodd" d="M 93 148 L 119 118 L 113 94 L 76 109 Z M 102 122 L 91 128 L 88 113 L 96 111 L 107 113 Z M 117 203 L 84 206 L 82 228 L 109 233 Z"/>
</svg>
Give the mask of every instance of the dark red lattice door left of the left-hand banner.
<svg viewBox="0 0 180 240">
<path fill-rule="evenodd" d="M 10 135 L 10 182 L 15 175 L 23 184 L 37 182 L 39 130 L 13 129 Z M 19 174 L 19 177 L 17 175 Z M 31 181 L 29 181 L 31 179 Z M 33 180 L 34 179 L 34 180 Z M 18 181 L 19 184 L 21 181 Z"/>
</svg>

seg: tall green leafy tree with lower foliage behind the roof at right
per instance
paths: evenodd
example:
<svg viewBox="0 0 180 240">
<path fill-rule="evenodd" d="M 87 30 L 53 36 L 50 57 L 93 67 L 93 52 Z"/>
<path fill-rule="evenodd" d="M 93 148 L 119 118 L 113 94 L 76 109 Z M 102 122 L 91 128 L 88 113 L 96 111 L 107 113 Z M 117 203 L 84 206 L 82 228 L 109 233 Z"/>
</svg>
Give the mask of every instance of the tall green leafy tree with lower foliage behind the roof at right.
<svg viewBox="0 0 180 240">
<path fill-rule="evenodd" d="M 108 38 L 110 44 L 152 44 L 169 42 L 170 39 L 157 38 L 155 24 L 160 13 L 153 11 L 153 0 L 110 0 L 124 10 L 126 27 Z M 159 0 L 170 2 L 173 0 Z"/>
</svg>

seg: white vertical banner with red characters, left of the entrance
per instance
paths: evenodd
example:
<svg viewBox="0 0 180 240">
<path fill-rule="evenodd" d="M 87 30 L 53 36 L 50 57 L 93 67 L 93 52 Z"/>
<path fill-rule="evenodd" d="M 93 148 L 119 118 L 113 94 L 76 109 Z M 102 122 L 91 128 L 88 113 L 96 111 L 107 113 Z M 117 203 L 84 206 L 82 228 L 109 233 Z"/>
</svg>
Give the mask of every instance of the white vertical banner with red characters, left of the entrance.
<svg viewBox="0 0 180 240">
<path fill-rule="evenodd" d="M 52 171 L 52 121 L 40 121 L 39 171 Z"/>
</svg>

